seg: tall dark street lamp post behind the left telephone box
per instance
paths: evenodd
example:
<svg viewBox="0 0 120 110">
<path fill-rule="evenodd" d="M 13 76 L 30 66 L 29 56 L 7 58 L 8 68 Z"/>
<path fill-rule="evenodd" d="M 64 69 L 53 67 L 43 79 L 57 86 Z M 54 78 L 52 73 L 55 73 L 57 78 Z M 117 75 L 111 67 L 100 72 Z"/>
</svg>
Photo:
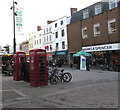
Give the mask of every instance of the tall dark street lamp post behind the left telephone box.
<svg viewBox="0 0 120 110">
<path fill-rule="evenodd" d="M 14 53 L 16 52 L 16 38 L 15 38 L 15 4 L 17 5 L 17 2 L 13 0 L 13 6 L 10 9 L 13 9 L 13 33 L 14 33 L 14 38 L 13 38 L 13 49 Z"/>
</svg>

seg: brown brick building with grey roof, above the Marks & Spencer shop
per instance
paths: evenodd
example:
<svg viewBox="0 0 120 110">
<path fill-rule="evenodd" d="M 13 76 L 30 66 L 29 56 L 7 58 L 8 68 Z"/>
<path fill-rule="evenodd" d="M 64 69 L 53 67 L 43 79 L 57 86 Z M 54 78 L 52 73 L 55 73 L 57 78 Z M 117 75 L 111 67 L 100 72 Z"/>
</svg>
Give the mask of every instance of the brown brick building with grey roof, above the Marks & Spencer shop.
<svg viewBox="0 0 120 110">
<path fill-rule="evenodd" d="M 97 2 L 75 12 L 67 25 L 68 52 L 85 50 L 98 63 L 116 60 L 120 63 L 120 2 Z"/>
</svg>

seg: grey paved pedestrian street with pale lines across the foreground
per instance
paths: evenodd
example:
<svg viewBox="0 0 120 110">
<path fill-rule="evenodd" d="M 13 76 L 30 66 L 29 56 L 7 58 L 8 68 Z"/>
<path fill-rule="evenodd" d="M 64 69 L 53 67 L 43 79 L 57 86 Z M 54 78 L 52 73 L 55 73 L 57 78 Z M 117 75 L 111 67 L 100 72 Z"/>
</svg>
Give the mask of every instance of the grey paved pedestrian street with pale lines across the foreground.
<svg viewBox="0 0 120 110">
<path fill-rule="evenodd" d="M 65 71 L 72 74 L 71 82 L 41 87 L 3 75 L 2 108 L 118 108 L 117 72 Z"/>
</svg>

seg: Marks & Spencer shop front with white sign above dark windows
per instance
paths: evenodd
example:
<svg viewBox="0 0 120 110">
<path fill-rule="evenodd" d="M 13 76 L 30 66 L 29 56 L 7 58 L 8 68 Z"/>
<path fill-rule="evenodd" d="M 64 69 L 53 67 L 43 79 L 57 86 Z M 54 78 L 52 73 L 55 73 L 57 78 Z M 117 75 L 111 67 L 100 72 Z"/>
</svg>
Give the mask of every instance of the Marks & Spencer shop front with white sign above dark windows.
<svg viewBox="0 0 120 110">
<path fill-rule="evenodd" d="M 120 43 L 82 47 L 82 50 L 93 55 L 94 66 L 104 63 L 110 65 L 111 62 L 120 64 Z"/>
</svg>

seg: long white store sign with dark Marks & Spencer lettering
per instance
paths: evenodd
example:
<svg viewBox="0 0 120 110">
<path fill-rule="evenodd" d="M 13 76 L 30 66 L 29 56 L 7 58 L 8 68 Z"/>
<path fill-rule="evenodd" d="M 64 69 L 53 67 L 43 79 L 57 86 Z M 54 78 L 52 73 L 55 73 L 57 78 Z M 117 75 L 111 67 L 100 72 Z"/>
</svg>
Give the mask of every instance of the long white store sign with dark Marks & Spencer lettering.
<svg viewBox="0 0 120 110">
<path fill-rule="evenodd" d="M 82 47 L 85 52 L 120 50 L 120 43 Z"/>
</svg>

